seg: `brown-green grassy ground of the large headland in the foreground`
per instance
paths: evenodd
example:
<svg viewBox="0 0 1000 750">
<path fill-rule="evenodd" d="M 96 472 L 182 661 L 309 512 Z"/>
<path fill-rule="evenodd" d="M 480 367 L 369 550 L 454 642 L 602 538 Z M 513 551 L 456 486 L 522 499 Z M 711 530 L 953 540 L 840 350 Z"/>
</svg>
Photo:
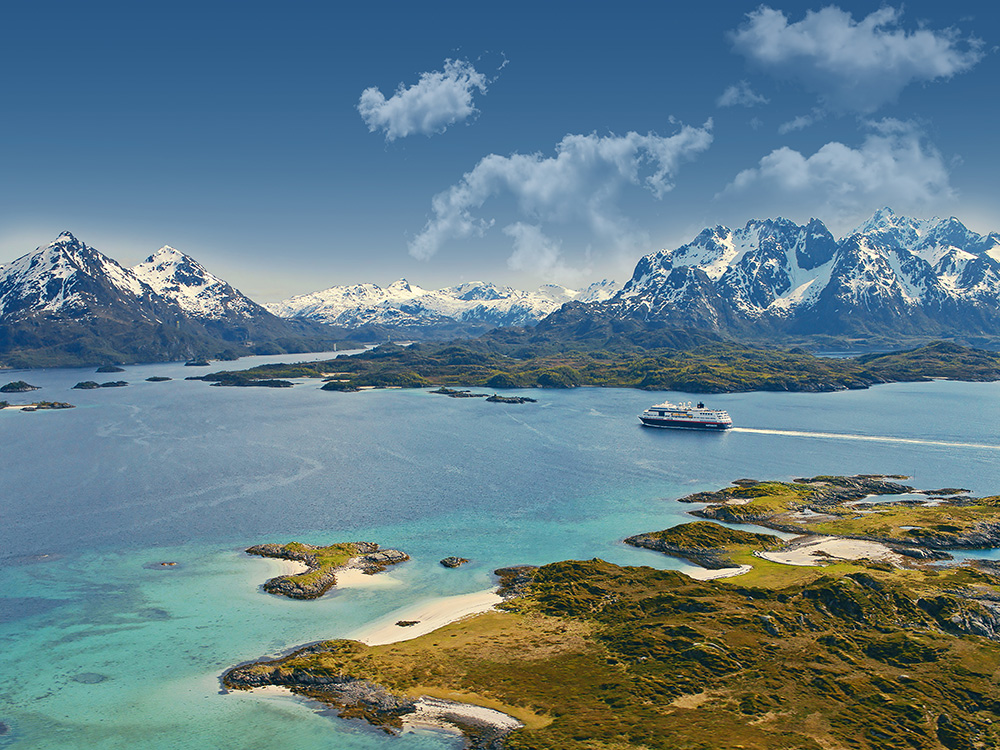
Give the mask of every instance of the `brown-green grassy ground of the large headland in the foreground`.
<svg viewBox="0 0 1000 750">
<path fill-rule="evenodd" d="M 331 641 L 280 667 L 497 708 L 525 724 L 507 737 L 511 749 L 1000 742 L 1000 644 L 950 619 L 983 606 L 956 592 L 995 592 L 1000 581 L 863 564 L 794 573 L 791 584 L 748 586 L 555 563 L 508 612 L 385 646 Z"/>
</svg>

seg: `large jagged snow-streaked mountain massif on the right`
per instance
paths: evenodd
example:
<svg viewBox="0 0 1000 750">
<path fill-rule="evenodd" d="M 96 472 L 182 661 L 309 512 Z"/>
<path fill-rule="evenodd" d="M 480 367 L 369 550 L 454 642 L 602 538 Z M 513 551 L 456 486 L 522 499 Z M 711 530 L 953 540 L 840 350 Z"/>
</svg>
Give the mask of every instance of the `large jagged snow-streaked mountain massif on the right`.
<svg viewBox="0 0 1000 750">
<path fill-rule="evenodd" d="M 595 314 L 729 334 L 1000 334 L 1000 235 L 883 208 L 837 240 L 816 219 L 705 229 L 642 258 Z"/>
</svg>

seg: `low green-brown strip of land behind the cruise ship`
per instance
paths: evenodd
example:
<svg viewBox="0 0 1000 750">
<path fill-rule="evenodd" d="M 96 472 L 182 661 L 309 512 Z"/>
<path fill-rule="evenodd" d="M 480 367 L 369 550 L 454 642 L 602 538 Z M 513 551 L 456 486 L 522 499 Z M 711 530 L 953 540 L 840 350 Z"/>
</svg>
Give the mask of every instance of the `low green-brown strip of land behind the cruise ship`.
<svg viewBox="0 0 1000 750">
<path fill-rule="evenodd" d="M 615 349 L 550 352 L 518 348 L 497 336 L 454 344 L 384 344 L 353 357 L 296 365 L 266 365 L 201 376 L 233 384 L 266 378 L 323 378 L 326 390 L 422 388 L 432 384 L 488 388 L 615 386 L 689 393 L 834 391 L 877 383 L 947 377 L 1000 379 L 1000 357 L 938 342 L 908 352 L 858 358 L 816 357 L 742 344 L 711 343 L 687 350 Z M 569 345 L 567 345 L 569 346 Z M 336 385 L 334 385 L 336 384 Z"/>
</svg>

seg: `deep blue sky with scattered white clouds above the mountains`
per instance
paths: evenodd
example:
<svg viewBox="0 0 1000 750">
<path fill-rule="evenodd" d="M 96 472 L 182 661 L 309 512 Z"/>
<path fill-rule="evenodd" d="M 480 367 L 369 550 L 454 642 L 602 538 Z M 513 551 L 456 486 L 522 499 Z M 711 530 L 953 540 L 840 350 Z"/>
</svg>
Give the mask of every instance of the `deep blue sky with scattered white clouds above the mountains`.
<svg viewBox="0 0 1000 750">
<path fill-rule="evenodd" d="M 1000 230 L 997 45 L 981 0 L 8 3 L 0 264 L 168 244 L 269 302 L 624 282 L 752 218 Z"/>
</svg>

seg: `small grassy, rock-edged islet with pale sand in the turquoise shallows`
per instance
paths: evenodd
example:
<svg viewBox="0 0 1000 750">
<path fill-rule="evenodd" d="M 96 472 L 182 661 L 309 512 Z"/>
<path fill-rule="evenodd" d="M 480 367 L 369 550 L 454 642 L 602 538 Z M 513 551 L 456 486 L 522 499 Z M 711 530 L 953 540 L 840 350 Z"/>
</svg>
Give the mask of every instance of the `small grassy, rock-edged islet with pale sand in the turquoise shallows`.
<svg viewBox="0 0 1000 750">
<path fill-rule="evenodd" d="M 405 552 L 380 549 L 374 542 L 342 542 L 320 547 L 301 542 L 258 544 L 248 547 L 249 555 L 273 557 L 303 563 L 306 570 L 278 576 L 264 582 L 264 591 L 291 599 L 318 599 L 337 585 L 337 574 L 360 570 L 374 575 L 390 565 L 410 559 Z"/>
</svg>

